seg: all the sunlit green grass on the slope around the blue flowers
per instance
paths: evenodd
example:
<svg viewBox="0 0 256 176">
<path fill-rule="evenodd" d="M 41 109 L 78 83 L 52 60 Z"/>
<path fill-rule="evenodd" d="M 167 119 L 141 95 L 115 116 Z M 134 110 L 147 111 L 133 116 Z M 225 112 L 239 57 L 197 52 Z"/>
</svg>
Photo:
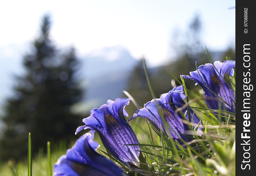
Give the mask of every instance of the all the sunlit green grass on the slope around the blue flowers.
<svg viewBox="0 0 256 176">
<path fill-rule="evenodd" d="M 212 62 L 211 59 L 210 61 Z M 152 98 L 155 98 L 145 61 L 144 69 Z M 170 74 L 173 76 L 172 72 Z M 189 121 L 185 120 L 185 118 L 182 121 L 189 125 L 191 130 L 187 135 L 192 138 L 192 141 L 189 143 L 184 142 L 185 144 L 181 145 L 178 141 L 168 137 L 166 133 L 152 126 L 145 119 L 139 119 L 139 123 L 136 119 L 136 123 L 132 121 L 131 126 L 140 143 L 130 145 L 139 145 L 141 147 L 141 155 L 139 156 L 140 168 L 131 168 L 123 165 L 107 153 L 103 145 L 99 148 L 99 153 L 109 157 L 129 175 L 235 175 L 235 124 L 230 123 L 231 120 L 235 122 L 235 114 L 220 109 L 209 109 L 198 87 L 189 90 L 182 77 L 181 80 L 176 77 L 174 79 L 183 84 L 184 87 L 186 104 L 177 109 L 177 113 L 182 113 L 181 110 L 183 108 L 187 109 L 186 113 L 189 115 Z M 235 89 L 235 79 L 230 78 L 229 80 L 232 82 L 232 88 Z M 125 92 L 125 94 L 130 96 L 128 92 Z M 132 102 L 134 102 L 135 106 L 138 106 L 135 100 L 136 97 L 134 99 L 130 96 L 130 98 L 133 99 Z M 191 116 L 190 108 L 201 119 L 198 124 L 193 124 L 194 115 Z M 186 113 L 183 115 L 186 116 Z M 131 116 L 132 114 L 129 115 Z M 225 121 L 220 120 L 223 118 Z M 164 125 L 168 124 L 165 123 Z M 193 130 L 193 126 L 196 126 L 195 130 Z M 202 127 L 203 133 L 198 136 L 197 129 L 199 126 Z M 101 143 L 98 137 L 95 137 L 95 140 Z M 15 164 L 9 161 L 8 164 L 0 166 L 0 175 L 52 175 L 53 163 L 65 153 L 66 148 L 61 146 L 51 150 L 48 142 L 46 155 L 40 150 L 32 162 L 29 134 L 28 165 L 25 162 Z"/>
</svg>

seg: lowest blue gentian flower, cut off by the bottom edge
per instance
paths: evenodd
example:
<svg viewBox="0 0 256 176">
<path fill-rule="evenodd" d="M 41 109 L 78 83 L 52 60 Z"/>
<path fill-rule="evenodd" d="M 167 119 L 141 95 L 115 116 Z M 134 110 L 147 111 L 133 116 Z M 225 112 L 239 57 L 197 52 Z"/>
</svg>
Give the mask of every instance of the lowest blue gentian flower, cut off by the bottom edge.
<svg viewBox="0 0 256 176">
<path fill-rule="evenodd" d="M 120 167 L 95 150 L 99 144 L 93 141 L 94 135 L 81 136 L 66 155 L 54 164 L 54 176 L 124 176 Z"/>
</svg>

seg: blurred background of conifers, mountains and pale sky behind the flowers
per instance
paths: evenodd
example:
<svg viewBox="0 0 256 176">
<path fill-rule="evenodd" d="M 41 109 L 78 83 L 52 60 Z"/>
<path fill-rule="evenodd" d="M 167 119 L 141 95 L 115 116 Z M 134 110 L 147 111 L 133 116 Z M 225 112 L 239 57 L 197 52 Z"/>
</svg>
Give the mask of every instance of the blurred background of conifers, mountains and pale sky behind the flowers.
<svg viewBox="0 0 256 176">
<path fill-rule="evenodd" d="M 235 1 L 6 1 L 0 6 L 0 161 L 70 143 L 108 99 L 139 106 L 212 60 L 235 60 Z M 174 75 L 170 75 L 172 72 Z M 188 87 L 194 85 L 187 82 Z M 127 106 L 130 116 L 136 111 Z M 45 150 L 44 150 L 45 151 Z"/>
</svg>

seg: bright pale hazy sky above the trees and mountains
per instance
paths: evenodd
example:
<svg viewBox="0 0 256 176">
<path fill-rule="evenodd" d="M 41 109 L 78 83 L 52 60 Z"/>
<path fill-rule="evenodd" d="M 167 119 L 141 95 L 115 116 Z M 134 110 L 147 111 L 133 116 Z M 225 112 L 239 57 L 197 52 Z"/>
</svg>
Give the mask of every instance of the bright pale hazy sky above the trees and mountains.
<svg viewBox="0 0 256 176">
<path fill-rule="evenodd" d="M 173 29 L 184 31 L 195 13 L 203 23 L 203 43 L 224 50 L 235 41 L 235 1 L 226 0 L 8 0 L 0 6 L 0 49 L 11 44 L 28 48 L 41 17 L 52 16 L 51 37 L 59 46 L 74 45 L 80 55 L 122 45 L 151 66 L 172 56 Z M 1 59 L 1 58 L 0 58 Z"/>
</svg>

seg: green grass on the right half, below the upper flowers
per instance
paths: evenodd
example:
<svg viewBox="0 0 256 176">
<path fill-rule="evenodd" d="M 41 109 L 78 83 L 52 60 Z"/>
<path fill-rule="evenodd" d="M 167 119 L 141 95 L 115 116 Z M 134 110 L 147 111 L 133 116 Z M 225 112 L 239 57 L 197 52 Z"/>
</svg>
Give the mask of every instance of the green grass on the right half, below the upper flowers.
<svg viewBox="0 0 256 176">
<path fill-rule="evenodd" d="M 207 54 L 209 55 L 208 51 Z M 212 62 L 210 55 L 209 59 Z M 153 92 L 147 71 L 145 71 L 145 76 L 149 90 Z M 146 169 L 143 171 L 138 169 L 134 171 L 133 175 L 136 172 L 140 175 L 235 175 L 235 125 L 233 124 L 235 123 L 235 114 L 225 110 L 207 108 L 202 93 L 199 93 L 196 87 L 189 90 L 182 77 L 182 81 L 180 81 L 173 74 L 172 76 L 184 87 L 187 103 L 182 108 L 189 109 L 190 107 L 194 109 L 201 119 L 195 131 L 197 131 L 198 126 L 201 126 L 203 133 L 201 136 L 193 133 L 191 142 L 180 145 L 177 141 L 173 141 L 172 138 L 168 138 L 166 134 L 147 123 L 148 128 L 140 131 L 140 135 L 135 132 L 140 144 L 131 145 L 141 147 L 141 152 L 151 169 L 150 172 Z M 235 91 L 235 79 L 232 77 L 228 80 Z M 152 98 L 154 98 L 153 93 Z M 136 97 L 135 100 L 137 100 Z M 177 113 L 181 110 L 178 109 Z M 225 120 L 219 121 L 218 119 L 221 118 L 216 116 Z M 189 119 L 193 119 L 193 117 Z M 232 119 L 232 123 L 229 123 L 230 119 Z M 192 120 L 184 120 L 184 123 L 187 123 L 190 129 L 193 129 L 191 122 Z M 137 122 L 131 124 L 133 127 Z M 146 122 L 141 120 L 140 126 L 143 124 L 146 124 Z"/>
</svg>

